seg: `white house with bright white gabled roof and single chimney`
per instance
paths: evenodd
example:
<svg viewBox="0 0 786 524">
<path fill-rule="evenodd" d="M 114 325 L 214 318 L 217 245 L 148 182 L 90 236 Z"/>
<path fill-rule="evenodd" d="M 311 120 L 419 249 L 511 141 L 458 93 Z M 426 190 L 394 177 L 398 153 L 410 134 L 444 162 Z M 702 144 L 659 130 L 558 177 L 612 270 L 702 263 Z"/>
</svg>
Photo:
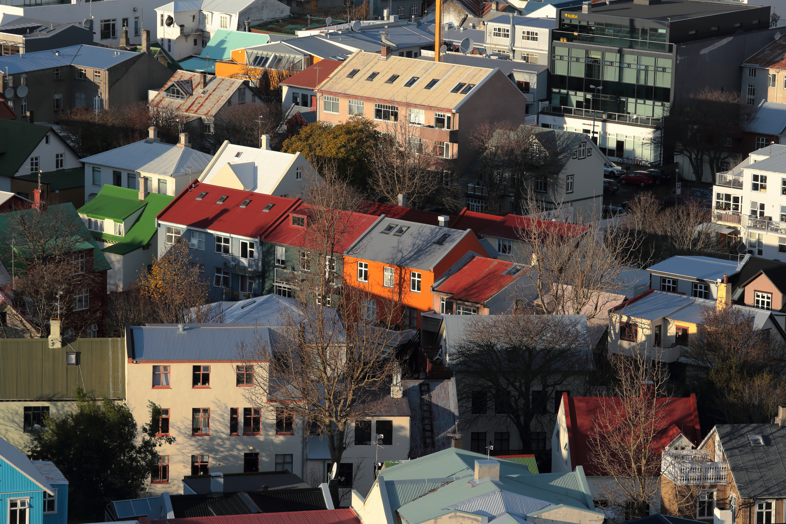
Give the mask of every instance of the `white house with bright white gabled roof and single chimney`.
<svg viewBox="0 0 786 524">
<path fill-rule="evenodd" d="M 224 143 L 199 177 L 200 182 L 266 195 L 294 198 L 303 193 L 314 168 L 299 152 L 270 149 L 270 137 L 262 137 L 264 148 Z"/>
</svg>

